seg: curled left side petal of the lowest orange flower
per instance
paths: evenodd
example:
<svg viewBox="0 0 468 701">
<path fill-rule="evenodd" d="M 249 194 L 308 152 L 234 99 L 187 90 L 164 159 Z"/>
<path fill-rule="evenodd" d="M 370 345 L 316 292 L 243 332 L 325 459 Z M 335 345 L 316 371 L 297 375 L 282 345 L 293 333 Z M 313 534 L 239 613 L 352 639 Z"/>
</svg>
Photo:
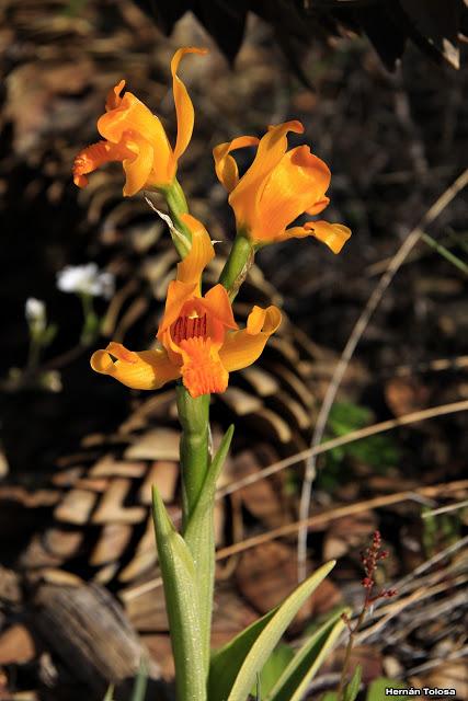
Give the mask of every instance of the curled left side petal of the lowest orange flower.
<svg viewBox="0 0 468 701">
<path fill-rule="evenodd" d="M 116 358 L 115 360 L 113 358 Z M 164 350 L 128 350 L 121 343 L 110 343 L 105 350 L 96 350 L 91 367 L 101 375 L 110 375 L 135 390 L 156 390 L 180 377 Z"/>
</svg>

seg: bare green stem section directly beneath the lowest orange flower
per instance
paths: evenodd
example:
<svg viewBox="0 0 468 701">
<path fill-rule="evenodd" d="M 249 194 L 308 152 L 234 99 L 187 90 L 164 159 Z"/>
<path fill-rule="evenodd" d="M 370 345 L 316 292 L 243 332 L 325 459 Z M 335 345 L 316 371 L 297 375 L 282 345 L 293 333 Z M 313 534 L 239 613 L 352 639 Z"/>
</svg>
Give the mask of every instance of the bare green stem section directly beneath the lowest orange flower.
<svg viewBox="0 0 468 701">
<path fill-rule="evenodd" d="M 182 507 L 185 528 L 209 467 L 209 394 L 193 399 L 183 384 L 178 384 L 176 400 L 182 426 Z"/>
</svg>

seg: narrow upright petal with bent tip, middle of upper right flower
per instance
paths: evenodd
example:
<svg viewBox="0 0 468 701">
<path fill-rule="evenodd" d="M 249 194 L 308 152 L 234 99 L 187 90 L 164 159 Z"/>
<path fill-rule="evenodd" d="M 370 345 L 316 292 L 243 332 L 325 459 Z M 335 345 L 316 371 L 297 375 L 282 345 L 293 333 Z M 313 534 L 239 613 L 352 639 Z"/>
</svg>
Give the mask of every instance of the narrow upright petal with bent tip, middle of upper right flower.
<svg viewBox="0 0 468 701">
<path fill-rule="evenodd" d="M 258 200 L 266 179 L 286 153 L 288 131 L 303 134 L 304 127 L 297 120 L 270 127 L 267 134 L 260 140 L 252 165 L 229 195 L 238 228 L 243 225 L 255 228 Z"/>
</svg>

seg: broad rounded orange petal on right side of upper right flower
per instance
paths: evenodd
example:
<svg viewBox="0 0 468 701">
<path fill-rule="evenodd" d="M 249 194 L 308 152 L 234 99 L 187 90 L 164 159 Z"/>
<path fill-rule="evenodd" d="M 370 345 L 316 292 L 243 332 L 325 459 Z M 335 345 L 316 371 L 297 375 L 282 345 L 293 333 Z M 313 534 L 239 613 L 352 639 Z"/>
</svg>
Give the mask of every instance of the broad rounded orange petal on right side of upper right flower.
<svg viewBox="0 0 468 701">
<path fill-rule="evenodd" d="M 252 238 L 274 240 L 299 215 L 323 203 L 330 180 L 330 169 L 308 146 L 287 151 L 260 196 L 259 225 Z"/>
</svg>

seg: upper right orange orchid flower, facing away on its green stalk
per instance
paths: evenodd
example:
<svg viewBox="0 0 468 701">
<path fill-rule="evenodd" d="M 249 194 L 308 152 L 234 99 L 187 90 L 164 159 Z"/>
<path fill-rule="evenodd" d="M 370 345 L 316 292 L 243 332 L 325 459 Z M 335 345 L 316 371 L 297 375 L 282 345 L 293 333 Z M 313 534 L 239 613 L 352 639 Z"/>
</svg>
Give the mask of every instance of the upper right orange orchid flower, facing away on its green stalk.
<svg viewBox="0 0 468 701">
<path fill-rule="evenodd" d="M 237 229 L 255 245 L 312 235 L 339 253 L 351 235 L 344 225 L 306 221 L 287 228 L 300 215 L 318 215 L 327 207 L 331 180 L 328 165 L 308 146 L 287 150 L 288 131 L 303 134 L 304 127 L 300 122 L 286 122 L 270 127 L 260 141 L 241 136 L 214 149 L 216 174 L 229 193 Z M 247 146 L 258 146 L 256 156 L 239 179 L 230 152 Z"/>
</svg>

